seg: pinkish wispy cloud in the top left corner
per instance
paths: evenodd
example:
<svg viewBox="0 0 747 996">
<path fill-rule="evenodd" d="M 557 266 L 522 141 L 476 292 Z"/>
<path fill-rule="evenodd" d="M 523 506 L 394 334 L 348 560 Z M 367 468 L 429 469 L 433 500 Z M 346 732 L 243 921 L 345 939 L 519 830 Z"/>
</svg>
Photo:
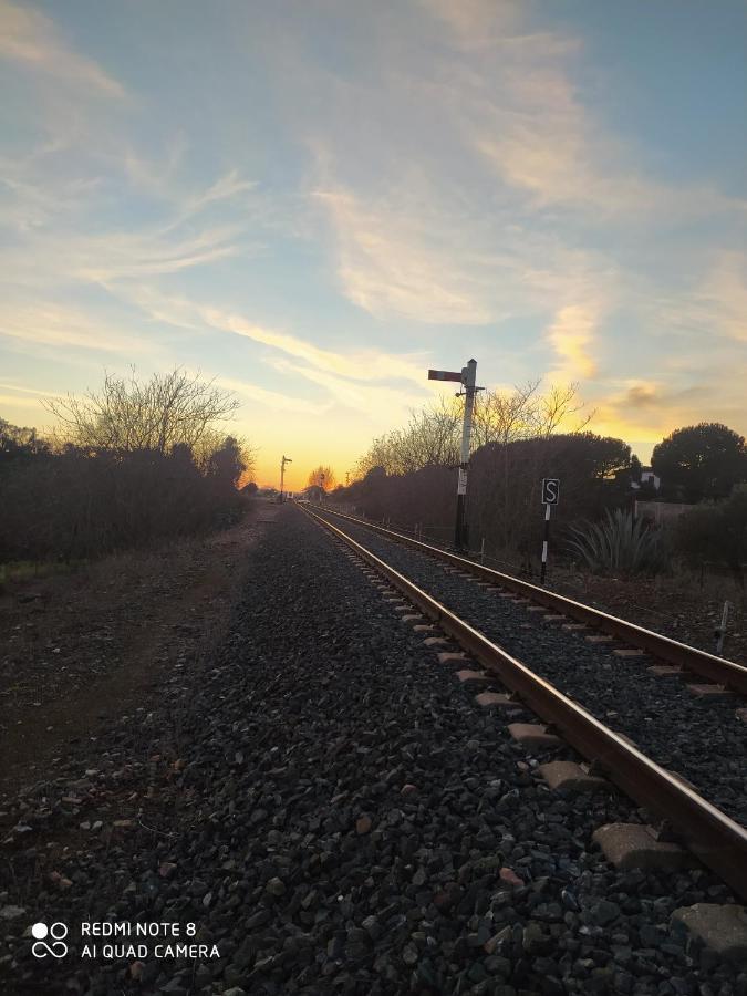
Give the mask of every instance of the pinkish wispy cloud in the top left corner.
<svg viewBox="0 0 747 996">
<path fill-rule="evenodd" d="M 126 96 L 121 83 L 65 43 L 53 21 L 37 10 L 18 7 L 9 0 L 0 0 L 0 56 L 75 84 L 84 89 L 87 95 L 98 92 L 117 100 Z"/>
</svg>

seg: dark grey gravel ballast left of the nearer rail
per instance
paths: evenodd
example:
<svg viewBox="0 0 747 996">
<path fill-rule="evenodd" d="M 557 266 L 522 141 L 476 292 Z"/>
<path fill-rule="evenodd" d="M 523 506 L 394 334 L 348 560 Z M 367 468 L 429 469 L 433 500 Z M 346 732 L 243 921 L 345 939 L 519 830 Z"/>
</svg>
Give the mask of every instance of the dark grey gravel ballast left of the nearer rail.
<svg viewBox="0 0 747 996">
<path fill-rule="evenodd" d="M 591 834 L 643 815 L 550 793 L 502 719 L 434 662 L 331 537 L 283 509 L 217 658 L 175 675 L 160 712 L 113 725 L 91 770 L 81 758 L 66 784 L 24 793 L 27 823 L 46 807 L 71 844 L 68 884 L 24 893 L 43 844 L 11 849 L 2 992 L 747 993 L 747 973 L 670 930 L 677 906 L 728 902 L 725 886 L 701 869 L 615 872 Z M 58 800 L 117 779 L 141 811 L 94 851 Z M 168 805 L 149 812 L 154 793 Z M 53 919 L 191 921 L 220 958 L 86 963 L 71 928 L 50 967 L 20 936 Z"/>
</svg>

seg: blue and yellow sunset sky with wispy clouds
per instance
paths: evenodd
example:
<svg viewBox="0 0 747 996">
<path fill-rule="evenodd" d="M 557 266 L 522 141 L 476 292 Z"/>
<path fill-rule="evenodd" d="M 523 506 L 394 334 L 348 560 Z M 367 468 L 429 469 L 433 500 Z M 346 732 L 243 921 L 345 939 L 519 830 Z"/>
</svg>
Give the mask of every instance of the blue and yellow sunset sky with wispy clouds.
<svg viewBox="0 0 747 996">
<path fill-rule="evenodd" d="M 294 489 L 474 356 L 747 434 L 743 0 L 0 0 L 0 92 L 2 418 L 179 365 Z"/>
</svg>

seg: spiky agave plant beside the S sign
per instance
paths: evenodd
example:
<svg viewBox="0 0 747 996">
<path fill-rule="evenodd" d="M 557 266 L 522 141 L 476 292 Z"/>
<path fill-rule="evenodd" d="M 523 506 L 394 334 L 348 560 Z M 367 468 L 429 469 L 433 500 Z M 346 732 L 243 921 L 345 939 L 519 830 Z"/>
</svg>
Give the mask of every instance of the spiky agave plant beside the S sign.
<svg viewBox="0 0 747 996">
<path fill-rule="evenodd" d="M 603 522 L 569 527 L 567 542 L 596 574 L 658 574 L 668 570 L 670 556 L 661 529 L 652 529 L 630 511 L 608 510 Z"/>
</svg>

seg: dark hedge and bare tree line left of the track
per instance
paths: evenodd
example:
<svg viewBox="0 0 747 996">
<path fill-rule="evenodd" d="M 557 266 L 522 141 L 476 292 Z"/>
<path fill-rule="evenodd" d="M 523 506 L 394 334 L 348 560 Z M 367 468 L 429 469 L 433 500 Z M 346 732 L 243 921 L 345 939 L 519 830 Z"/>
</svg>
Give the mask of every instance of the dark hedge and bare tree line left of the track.
<svg viewBox="0 0 747 996">
<path fill-rule="evenodd" d="M 45 402 L 48 438 L 0 419 L 0 562 L 75 560 L 234 521 L 247 445 L 230 392 L 181 370 Z"/>
</svg>

